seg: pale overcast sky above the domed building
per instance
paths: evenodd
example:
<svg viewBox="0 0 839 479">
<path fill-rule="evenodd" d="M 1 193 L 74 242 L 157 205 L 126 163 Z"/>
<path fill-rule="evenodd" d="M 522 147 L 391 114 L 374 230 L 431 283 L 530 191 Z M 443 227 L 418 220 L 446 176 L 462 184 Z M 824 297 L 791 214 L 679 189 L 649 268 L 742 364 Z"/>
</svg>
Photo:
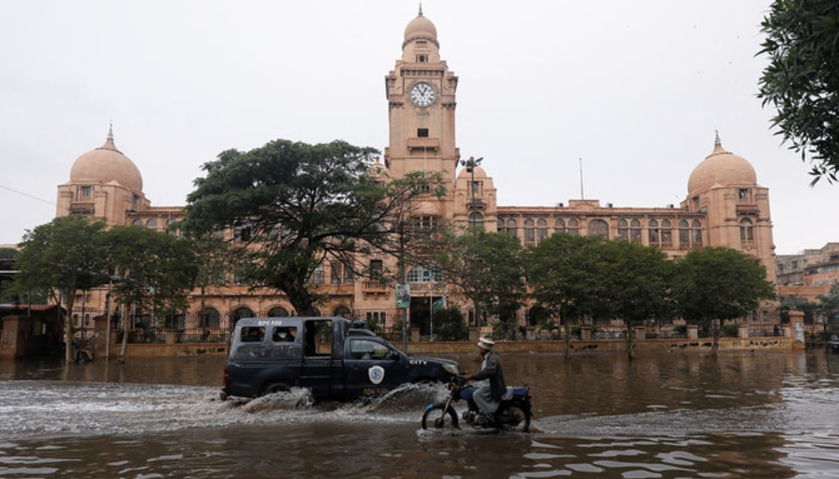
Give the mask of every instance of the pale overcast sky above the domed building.
<svg viewBox="0 0 839 479">
<path fill-rule="evenodd" d="M 414 0 L 5 2 L 0 15 L 0 244 L 55 217 L 56 186 L 105 141 L 155 206 L 185 204 L 201 164 L 276 139 L 383 150 L 384 75 Z M 839 186 L 769 130 L 756 57 L 769 0 L 425 0 L 460 77 L 457 144 L 498 204 L 584 193 L 678 204 L 719 131 L 769 188 L 778 254 L 839 241 Z"/>
</svg>

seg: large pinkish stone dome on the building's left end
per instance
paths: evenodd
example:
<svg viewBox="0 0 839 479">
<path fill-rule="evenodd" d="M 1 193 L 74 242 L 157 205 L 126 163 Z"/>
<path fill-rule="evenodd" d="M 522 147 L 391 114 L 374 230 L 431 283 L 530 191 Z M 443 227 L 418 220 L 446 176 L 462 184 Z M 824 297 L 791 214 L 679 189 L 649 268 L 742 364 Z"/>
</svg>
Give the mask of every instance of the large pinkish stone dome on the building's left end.
<svg viewBox="0 0 839 479">
<path fill-rule="evenodd" d="M 113 144 L 113 131 L 109 130 L 102 147 L 76 158 L 70 169 L 70 183 L 116 182 L 135 192 L 143 192 L 140 170 Z"/>
</svg>

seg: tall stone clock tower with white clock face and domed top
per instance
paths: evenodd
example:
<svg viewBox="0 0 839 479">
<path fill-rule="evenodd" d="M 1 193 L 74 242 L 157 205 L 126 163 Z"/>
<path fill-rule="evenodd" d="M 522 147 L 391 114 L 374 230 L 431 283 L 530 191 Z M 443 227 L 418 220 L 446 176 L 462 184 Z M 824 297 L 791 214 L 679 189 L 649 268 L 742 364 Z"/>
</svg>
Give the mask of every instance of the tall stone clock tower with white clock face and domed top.
<svg viewBox="0 0 839 479">
<path fill-rule="evenodd" d="M 457 77 L 440 60 L 437 28 L 420 13 L 405 28 L 402 59 L 385 76 L 390 138 L 384 161 L 394 178 L 440 172 L 451 193 L 460 152 L 455 146 Z M 451 212 L 440 211 L 451 218 Z"/>
</svg>

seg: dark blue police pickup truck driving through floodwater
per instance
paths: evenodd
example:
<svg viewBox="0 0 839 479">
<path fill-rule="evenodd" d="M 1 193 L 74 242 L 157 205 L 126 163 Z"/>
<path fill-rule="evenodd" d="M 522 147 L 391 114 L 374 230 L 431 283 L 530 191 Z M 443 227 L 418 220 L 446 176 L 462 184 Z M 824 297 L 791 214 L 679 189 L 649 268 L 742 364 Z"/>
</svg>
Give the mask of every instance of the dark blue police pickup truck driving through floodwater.
<svg viewBox="0 0 839 479">
<path fill-rule="evenodd" d="M 347 401 L 460 373 L 455 361 L 406 356 L 342 317 L 249 317 L 236 324 L 221 399 L 303 387 L 315 400 Z"/>
</svg>

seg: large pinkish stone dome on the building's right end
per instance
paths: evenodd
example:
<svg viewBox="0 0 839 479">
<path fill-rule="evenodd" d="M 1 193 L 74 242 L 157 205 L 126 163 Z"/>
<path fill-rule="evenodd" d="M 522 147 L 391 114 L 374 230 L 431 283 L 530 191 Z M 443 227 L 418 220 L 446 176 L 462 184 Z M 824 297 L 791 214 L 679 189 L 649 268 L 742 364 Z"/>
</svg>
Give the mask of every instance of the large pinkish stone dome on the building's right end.
<svg viewBox="0 0 839 479">
<path fill-rule="evenodd" d="M 746 158 L 727 152 L 722 147 L 720 136 L 714 142 L 714 151 L 694 168 L 687 182 L 688 193 L 696 193 L 711 188 L 715 184 L 731 186 L 735 184 L 757 184 L 758 176 L 752 163 Z"/>
</svg>

